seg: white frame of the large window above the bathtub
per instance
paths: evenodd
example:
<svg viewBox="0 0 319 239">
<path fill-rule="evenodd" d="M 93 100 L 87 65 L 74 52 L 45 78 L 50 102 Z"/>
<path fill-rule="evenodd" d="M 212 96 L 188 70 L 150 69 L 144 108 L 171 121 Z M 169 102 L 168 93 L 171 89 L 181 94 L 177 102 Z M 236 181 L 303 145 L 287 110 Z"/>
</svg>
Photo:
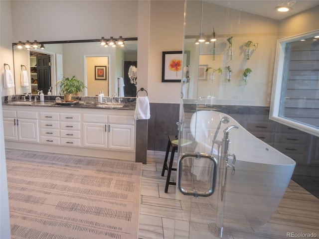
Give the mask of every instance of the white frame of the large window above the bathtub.
<svg viewBox="0 0 319 239">
<path fill-rule="evenodd" d="M 277 41 L 269 119 L 319 137 L 318 127 L 311 126 L 302 122 L 294 121 L 292 119 L 279 116 L 280 108 L 281 108 L 281 95 L 282 95 L 283 81 L 284 81 L 283 75 L 284 75 L 286 45 L 287 43 L 302 40 L 305 38 L 315 37 L 317 35 L 319 35 L 319 29 L 311 31 L 311 32 L 303 33 L 300 35 L 295 35 L 295 36 L 279 39 Z"/>
</svg>

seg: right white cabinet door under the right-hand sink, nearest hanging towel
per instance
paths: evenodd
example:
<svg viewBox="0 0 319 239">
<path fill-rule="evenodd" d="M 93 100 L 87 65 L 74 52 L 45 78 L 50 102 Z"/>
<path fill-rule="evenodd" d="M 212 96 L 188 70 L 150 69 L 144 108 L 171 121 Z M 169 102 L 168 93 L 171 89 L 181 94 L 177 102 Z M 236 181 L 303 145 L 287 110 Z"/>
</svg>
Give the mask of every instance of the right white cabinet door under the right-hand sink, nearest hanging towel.
<svg viewBox="0 0 319 239">
<path fill-rule="evenodd" d="M 134 125 L 109 124 L 108 148 L 134 151 Z"/>
</svg>

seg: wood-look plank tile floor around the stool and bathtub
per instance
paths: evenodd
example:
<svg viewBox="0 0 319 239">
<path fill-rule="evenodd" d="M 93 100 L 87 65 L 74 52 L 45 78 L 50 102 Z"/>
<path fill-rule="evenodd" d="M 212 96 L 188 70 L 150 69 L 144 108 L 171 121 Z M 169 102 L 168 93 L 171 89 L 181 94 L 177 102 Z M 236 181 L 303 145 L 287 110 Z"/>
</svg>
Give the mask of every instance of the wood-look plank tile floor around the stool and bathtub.
<svg viewBox="0 0 319 239">
<path fill-rule="evenodd" d="M 165 152 L 148 151 L 148 163 L 143 165 L 139 239 L 173 239 L 174 224 L 177 227 L 187 225 L 181 201 L 175 199 L 175 186 L 169 185 L 168 193 L 164 193 L 167 175 L 165 172 L 161 177 L 164 156 Z M 176 173 L 172 172 L 171 179 L 174 178 Z M 314 233 L 319 238 L 319 199 L 291 180 L 277 210 L 264 227 L 234 223 L 229 227 L 231 239 L 287 239 L 287 233 L 295 233 L 294 238 L 305 238 L 296 234 Z M 188 239 L 182 231 L 176 238 Z M 216 237 L 200 237 L 204 238 Z"/>
</svg>

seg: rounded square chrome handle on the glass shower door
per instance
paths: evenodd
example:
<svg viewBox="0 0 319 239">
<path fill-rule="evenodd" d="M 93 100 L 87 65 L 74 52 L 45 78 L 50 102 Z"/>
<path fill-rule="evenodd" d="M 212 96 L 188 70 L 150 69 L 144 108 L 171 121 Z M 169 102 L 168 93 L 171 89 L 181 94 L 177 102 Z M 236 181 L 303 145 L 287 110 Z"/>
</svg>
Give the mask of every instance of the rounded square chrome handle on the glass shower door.
<svg viewBox="0 0 319 239">
<path fill-rule="evenodd" d="M 194 157 L 196 159 L 200 158 L 207 158 L 210 161 L 212 161 L 213 165 L 211 168 L 211 179 L 210 179 L 210 188 L 206 192 L 198 192 L 196 190 L 186 190 L 181 186 L 181 178 L 182 178 L 182 162 L 184 159 L 188 157 Z M 216 178 L 217 178 L 217 160 L 210 154 L 206 153 L 184 153 L 182 154 L 178 159 L 178 166 L 177 166 L 177 173 L 178 173 L 178 181 L 177 181 L 177 187 L 179 191 L 184 195 L 191 195 L 195 198 L 197 197 L 209 197 L 211 196 L 215 191 L 216 186 Z"/>
</svg>

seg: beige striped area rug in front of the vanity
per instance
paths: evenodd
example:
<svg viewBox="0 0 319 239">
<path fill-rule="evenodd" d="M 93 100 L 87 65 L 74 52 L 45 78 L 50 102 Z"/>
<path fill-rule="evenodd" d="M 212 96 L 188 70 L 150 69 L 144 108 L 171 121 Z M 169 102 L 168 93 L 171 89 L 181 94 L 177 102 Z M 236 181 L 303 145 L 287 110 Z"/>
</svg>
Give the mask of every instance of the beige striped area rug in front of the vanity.
<svg viewBox="0 0 319 239">
<path fill-rule="evenodd" d="M 137 239 L 142 164 L 6 154 L 11 238 Z"/>
</svg>

